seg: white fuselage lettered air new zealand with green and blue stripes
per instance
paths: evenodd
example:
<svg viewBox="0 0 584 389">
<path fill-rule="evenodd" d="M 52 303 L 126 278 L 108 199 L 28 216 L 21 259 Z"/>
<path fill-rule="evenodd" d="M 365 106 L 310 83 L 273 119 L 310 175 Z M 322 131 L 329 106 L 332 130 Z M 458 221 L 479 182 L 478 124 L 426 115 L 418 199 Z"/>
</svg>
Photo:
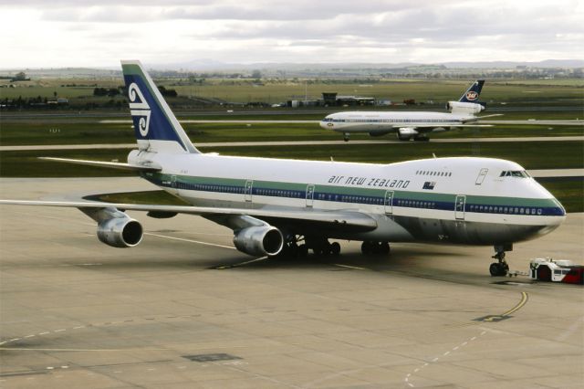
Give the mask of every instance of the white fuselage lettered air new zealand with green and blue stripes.
<svg viewBox="0 0 584 389">
<path fill-rule="evenodd" d="M 378 228 L 329 237 L 491 245 L 526 240 L 565 218 L 558 201 L 516 163 L 438 158 L 337 163 L 214 154 L 152 154 L 162 173 L 143 176 L 192 205 L 359 211 Z M 129 162 L 135 160 L 130 153 Z M 272 223 L 274 224 L 274 223 Z"/>
</svg>

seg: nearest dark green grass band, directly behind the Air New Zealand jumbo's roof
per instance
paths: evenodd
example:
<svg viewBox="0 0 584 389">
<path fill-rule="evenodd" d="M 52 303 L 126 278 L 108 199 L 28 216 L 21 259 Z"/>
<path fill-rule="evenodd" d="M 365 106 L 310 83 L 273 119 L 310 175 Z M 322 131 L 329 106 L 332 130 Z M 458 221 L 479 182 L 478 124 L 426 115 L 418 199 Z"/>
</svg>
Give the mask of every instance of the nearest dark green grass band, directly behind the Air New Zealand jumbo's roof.
<svg viewBox="0 0 584 389">
<path fill-rule="evenodd" d="M 204 152 L 224 155 L 258 156 L 338 162 L 395 163 L 412 159 L 477 155 L 516 161 L 527 169 L 569 169 L 584 166 L 582 142 L 469 142 L 428 143 L 403 142 L 398 144 L 340 144 L 328 146 L 270 146 L 205 148 Z M 126 175 L 89 166 L 51 163 L 38 156 L 125 161 L 127 150 L 78 150 L 45 152 L 0 152 L 0 176 L 58 177 Z M 558 157 L 561 156 L 561 157 Z"/>
</svg>

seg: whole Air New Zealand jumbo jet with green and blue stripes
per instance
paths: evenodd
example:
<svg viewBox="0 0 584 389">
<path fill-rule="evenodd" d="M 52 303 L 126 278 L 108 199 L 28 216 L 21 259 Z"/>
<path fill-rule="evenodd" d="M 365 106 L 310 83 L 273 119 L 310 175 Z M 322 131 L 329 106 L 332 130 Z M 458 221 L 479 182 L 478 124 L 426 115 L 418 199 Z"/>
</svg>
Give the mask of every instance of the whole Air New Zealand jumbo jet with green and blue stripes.
<svg viewBox="0 0 584 389">
<path fill-rule="evenodd" d="M 331 238 L 362 241 L 365 255 L 389 253 L 389 242 L 494 246 L 493 276 L 506 274 L 505 253 L 515 242 L 541 237 L 566 217 L 523 167 L 499 159 L 371 164 L 199 152 L 141 63 L 121 64 L 137 139 L 128 163 L 48 159 L 131 170 L 190 205 L 0 204 L 77 207 L 112 247 L 141 243 L 142 226 L 127 211 L 203 216 L 231 228 L 235 247 L 251 256 L 339 255 Z"/>
</svg>

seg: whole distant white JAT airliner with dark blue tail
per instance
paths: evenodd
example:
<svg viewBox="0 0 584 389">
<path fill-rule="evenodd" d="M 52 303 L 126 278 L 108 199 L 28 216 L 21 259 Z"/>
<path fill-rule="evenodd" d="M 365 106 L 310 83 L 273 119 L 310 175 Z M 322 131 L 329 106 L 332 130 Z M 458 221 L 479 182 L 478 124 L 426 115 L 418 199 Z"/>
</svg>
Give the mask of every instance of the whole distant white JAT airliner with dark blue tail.
<svg viewBox="0 0 584 389">
<path fill-rule="evenodd" d="M 383 136 L 390 132 L 395 132 L 400 141 L 412 139 L 414 141 L 427 141 L 428 132 L 480 126 L 468 123 L 480 119 L 474 114 L 485 110 L 486 104 L 478 100 L 483 84 L 485 84 L 485 80 L 478 79 L 466 89 L 458 101 L 448 101 L 446 108 L 450 110 L 449 113 L 415 110 L 338 112 L 331 113 L 320 121 L 320 127 L 325 130 L 342 132 L 345 142 L 349 141 L 351 133 Z"/>
</svg>

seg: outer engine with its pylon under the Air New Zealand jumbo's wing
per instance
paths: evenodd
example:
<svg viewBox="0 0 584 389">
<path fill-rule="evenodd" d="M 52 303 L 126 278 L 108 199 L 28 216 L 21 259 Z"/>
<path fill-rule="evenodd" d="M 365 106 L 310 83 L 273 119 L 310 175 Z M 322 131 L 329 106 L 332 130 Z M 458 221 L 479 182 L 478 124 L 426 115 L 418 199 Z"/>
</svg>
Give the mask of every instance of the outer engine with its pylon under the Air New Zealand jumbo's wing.
<svg viewBox="0 0 584 389">
<path fill-rule="evenodd" d="M 111 247 L 138 246 L 144 236 L 141 224 L 116 208 L 79 208 L 98 222 L 98 238 Z"/>
</svg>

